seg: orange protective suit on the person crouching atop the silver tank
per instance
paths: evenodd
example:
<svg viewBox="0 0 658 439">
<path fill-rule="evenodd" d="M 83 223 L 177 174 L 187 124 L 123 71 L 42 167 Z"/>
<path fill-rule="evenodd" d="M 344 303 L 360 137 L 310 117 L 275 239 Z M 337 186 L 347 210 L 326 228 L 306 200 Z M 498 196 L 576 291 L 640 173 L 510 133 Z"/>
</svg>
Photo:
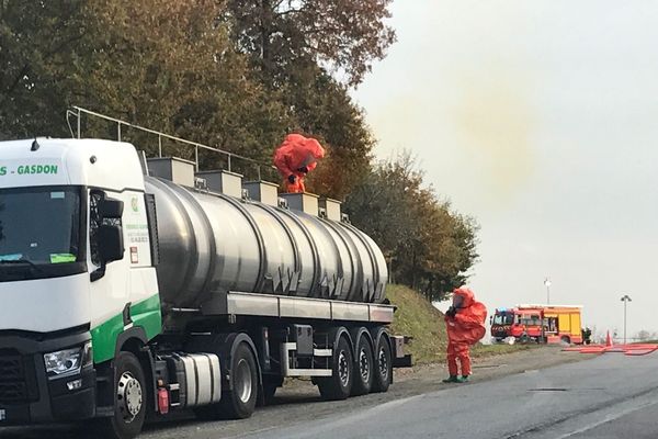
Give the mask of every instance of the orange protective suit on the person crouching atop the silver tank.
<svg viewBox="0 0 658 439">
<path fill-rule="evenodd" d="M 325 148 L 318 140 L 300 134 L 288 134 L 274 151 L 274 166 L 284 178 L 288 192 L 305 192 L 304 178 L 314 170 Z"/>
</svg>

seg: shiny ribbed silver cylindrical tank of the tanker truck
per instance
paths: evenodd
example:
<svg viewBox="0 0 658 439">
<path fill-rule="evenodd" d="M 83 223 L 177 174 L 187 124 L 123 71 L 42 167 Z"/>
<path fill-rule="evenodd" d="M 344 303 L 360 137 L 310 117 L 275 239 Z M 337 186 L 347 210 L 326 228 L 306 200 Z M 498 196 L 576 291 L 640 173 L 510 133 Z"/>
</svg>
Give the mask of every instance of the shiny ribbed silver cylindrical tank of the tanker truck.
<svg viewBox="0 0 658 439">
<path fill-rule="evenodd" d="M 377 245 L 355 227 L 146 177 L 155 194 L 162 301 L 194 307 L 217 291 L 382 303 Z"/>
</svg>

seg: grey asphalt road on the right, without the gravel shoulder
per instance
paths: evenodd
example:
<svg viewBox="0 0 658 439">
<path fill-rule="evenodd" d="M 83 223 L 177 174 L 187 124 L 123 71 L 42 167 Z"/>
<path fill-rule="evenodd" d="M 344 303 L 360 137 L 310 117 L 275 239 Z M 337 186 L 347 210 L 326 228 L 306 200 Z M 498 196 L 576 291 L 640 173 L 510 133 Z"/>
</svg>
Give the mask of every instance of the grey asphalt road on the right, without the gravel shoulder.
<svg viewBox="0 0 658 439">
<path fill-rule="evenodd" d="M 246 437 L 656 438 L 657 370 L 658 354 L 608 353 Z"/>
</svg>

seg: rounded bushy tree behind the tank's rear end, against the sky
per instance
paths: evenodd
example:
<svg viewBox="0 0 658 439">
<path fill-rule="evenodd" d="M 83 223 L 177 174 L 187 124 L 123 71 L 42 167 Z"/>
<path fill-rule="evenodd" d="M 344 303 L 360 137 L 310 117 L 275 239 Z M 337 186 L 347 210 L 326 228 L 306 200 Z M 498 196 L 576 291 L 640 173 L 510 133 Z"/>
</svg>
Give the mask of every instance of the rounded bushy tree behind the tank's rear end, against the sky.
<svg viewBox="0 0 658 439">
<path fill-rule="evenodd" d="M 407 153 L 376 166 L 352 192 L 345 212 L 382 247 L 396 282 L 441 300 L 476 261 L 477 224 L 423 187 Z"/>
</svg>

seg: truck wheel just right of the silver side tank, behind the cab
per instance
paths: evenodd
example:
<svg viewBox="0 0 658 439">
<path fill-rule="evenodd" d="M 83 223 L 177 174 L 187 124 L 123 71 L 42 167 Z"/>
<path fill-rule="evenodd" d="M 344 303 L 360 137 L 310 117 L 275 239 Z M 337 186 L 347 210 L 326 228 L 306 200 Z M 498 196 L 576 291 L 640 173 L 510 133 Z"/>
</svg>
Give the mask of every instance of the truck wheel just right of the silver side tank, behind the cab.
<svg viewBox="0 0 658 439">
<path fill-rule="evenodd" d="M 222 392 L 222 399 L 194 408 L 197 418 L 246 419 L 253 414 L 258 399 L 258 368 L 251 349 L 246 342 L 240 342 L 231 358 L 230 387 Z"/>
</svg>

